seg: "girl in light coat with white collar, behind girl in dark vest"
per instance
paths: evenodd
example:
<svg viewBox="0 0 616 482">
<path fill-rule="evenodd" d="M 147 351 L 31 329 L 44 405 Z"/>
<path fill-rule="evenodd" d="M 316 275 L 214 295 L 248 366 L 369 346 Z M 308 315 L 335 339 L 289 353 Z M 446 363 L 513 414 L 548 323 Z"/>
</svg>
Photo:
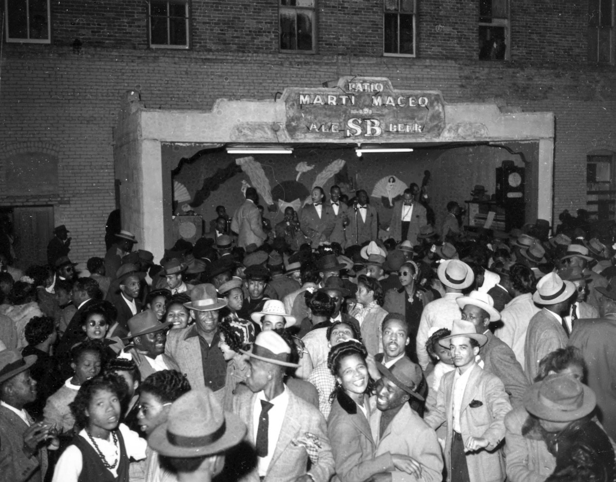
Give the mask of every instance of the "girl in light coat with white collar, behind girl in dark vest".
<svg viewBox="0 0 616 482">
<path fill-rule="evenodd" d="M 72 435 L 75 417 L 69 404 L 75 400 L 81 385 L 100 373 L 100 353 L 103 349 L 99 340 L 86 340 L 71 350 L 73 376 L 68 378 L 52 396 L 47 399 L 43 411 L 46 423 L 55 426 L 59 435 Z"/>
</svg>

